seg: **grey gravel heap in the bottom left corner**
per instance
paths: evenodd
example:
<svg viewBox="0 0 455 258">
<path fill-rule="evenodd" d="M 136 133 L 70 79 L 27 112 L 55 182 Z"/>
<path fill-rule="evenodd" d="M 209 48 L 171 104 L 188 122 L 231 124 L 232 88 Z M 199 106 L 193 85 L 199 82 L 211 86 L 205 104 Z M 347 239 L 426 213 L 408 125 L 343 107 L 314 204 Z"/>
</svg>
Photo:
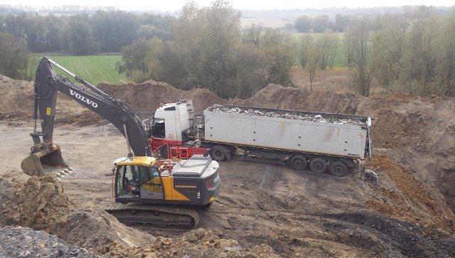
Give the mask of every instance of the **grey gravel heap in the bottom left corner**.
<svg viewBox="0 0 455 258">
<path fill-rule="evenodd" d="M 0 227 L 0 257 L 101 257 L 87 250 L 67 244 L 64 240 L 43 230 L 29 227 Z"/>
</svg>

